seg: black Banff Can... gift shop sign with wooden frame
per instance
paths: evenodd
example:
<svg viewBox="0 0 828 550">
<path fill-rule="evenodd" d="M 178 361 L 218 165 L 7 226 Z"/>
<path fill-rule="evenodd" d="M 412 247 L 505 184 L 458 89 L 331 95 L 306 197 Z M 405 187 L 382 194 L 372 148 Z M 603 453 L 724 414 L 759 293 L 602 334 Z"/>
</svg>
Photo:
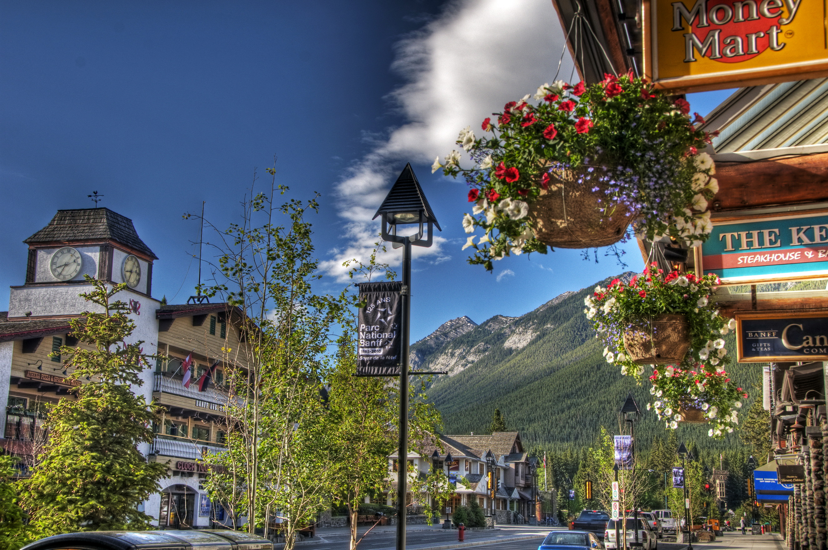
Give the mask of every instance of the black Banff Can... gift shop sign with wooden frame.
<svg viewBox="0 0 828 550">
<path fill-rule="evenodd" d="M 735 313 L 739 363 L 828 359 L 828 312 Z"/>
</svg>

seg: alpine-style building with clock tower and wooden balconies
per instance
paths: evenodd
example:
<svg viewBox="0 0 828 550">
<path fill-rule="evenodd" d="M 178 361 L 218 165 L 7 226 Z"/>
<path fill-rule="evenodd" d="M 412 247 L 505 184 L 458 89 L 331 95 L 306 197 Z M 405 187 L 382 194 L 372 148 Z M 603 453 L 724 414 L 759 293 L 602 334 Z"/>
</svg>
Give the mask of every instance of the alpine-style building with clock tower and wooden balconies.
<svg viewBox="0 0 828 550">
<path fill-rule="evenodd" d="M 140 239 L 132 220 L 106 208 L 58 210 L 45 228 L 24 241 L 28 262 L 20 274 L 23 284 L 12 287 L 7 312 L 0 312 L 0 446 L 33 463 L 48 438 L 44 420 L 60 398 L 72 398 L 72 388 L 84 380 L 66 377 L 63 358 L 50 357 L 61 345 L 78 345 L 69 334 L 70 319 L 97 311 L 79 297 L 89 292 L 84 275 L 120 283 L 128 288 L 115 299 L 127 302 L 136 329 L 131 342 L 142 340 L 147 355 L 160 355 L 142 373 L 141 386 L 132 388 L 147 403 L 161 406 L 153 426 L 152 444 L 139 451 L 150 461 L 168 465 L 168 475 L 143 510 L 164 528 L 207 528 L 226 522 L 224 510 L 213 506 L 203 481 L 209 475 L 211 454 L 220 452 L 226 434 L 224 410 L 231 393 L 227 354 L 241 349 L 238 330 L 242 311 L 204 300 L 161 305 L 152 297 L 152 263 L 157 259 Z M 191 383 L 185 387 L 182 362 L 191 355 Z M 243 372 L 243 360 L 233 368 Z M 200 391 L 197 381 L 215 365 L 213 382 Z"/>
</svg>

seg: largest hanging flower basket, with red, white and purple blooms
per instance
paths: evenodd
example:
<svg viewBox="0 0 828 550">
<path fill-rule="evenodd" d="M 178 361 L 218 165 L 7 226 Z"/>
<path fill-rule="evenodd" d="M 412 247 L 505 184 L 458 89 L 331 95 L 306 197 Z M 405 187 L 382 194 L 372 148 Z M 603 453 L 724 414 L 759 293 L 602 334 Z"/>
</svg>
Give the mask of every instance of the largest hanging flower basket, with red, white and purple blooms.
<svg viewBox="0 0 828 550">
<path fill-rule="evenodd" d="M 452 151 L 431 168 L 469 184 L 469 263 L 491 271 L 493 260 L 511 254 L 612 245 L 633 230 L 702 243 L 719 184 L 713 159 L 700 152 L 710 135 L 697 129 L 704 119 L 695 114 L 691 121 L 686 100 L 629 73 L 589 86 L 543 84 L 533 99 L 493 113 L 496 122 L 486 118 L 483 137 L 465 128 L 457 143 L 472 166 L 460 166 L 462 153 Z"/>
</svg>

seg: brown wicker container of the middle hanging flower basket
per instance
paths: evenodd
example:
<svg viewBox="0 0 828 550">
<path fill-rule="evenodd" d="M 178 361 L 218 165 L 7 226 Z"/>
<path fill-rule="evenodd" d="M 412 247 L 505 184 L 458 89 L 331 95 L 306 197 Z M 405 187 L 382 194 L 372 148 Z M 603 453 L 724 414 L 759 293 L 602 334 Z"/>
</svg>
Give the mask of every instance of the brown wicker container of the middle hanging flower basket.
<svg viewBox="0 0 828 550">
<path fill-rule="evenodd" d="M 638 364 L 680 364 L 690 349 L 690 324 L 680 313 L 662 313 L 625 330 L 623 347 Z"/>
</svg>

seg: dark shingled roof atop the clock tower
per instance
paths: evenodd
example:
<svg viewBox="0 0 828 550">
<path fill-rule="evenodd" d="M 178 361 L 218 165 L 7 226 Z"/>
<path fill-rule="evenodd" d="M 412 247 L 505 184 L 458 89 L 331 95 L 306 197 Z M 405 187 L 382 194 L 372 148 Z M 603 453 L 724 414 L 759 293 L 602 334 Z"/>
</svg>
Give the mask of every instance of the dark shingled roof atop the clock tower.
<svg viewBox="0 0 828 550">
<path fill-rule="evenodd" d="M 79 208 L 58 210 L 46 227 L 31 235 L 26 244 L 79 240 L 113 240 L 137 252 L 158 259 L 144 244 L 132 225 L 132 220 L 108 208 Z"/>
</svg>

